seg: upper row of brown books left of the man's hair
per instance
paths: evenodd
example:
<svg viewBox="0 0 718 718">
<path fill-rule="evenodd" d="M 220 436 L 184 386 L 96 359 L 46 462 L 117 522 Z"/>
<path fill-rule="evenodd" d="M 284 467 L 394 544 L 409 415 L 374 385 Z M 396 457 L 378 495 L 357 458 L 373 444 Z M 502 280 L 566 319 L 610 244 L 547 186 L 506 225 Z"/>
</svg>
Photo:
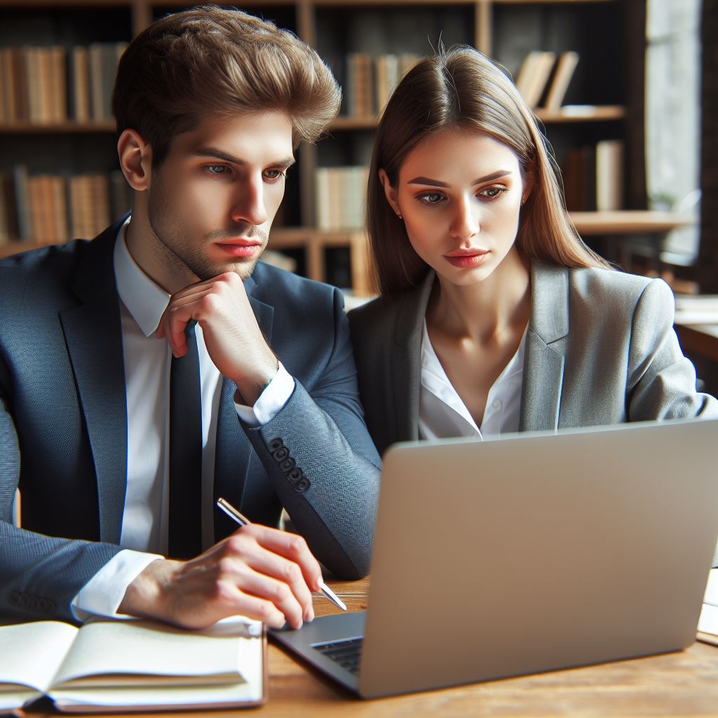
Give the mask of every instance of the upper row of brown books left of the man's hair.
<svg viewBox="0 0 718 718">
<path fill-rule="evenodd" d="M 111 121 L 126 42 L 0 48 L 0 123 Z"/>
</svg>

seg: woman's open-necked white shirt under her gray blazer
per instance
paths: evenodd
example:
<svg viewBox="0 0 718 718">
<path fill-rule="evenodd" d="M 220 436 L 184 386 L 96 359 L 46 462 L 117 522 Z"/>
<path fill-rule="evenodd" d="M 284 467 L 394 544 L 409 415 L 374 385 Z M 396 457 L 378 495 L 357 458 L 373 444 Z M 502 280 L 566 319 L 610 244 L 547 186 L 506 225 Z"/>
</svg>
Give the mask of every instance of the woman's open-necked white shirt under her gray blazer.
<svg viewBox="0 0 718 718">
<path fill-rule="evenodd" d="M 477 426 L 449 381 L 432 347 L 424 320 L 421 339 L 421 388 L 419 389 L 419 438 L 482 437 L 518 432 L 523 384 L 526 331 L 516 354 L 510 358 L 489 389 L 481 426 Z"/>
</svg>

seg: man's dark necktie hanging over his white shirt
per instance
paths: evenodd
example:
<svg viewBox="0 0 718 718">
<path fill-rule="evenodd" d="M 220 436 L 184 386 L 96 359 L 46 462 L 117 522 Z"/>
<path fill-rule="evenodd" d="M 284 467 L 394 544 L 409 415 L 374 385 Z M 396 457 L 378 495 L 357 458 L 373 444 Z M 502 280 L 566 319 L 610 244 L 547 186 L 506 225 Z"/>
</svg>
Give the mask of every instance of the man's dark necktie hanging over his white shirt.
<svg viewBox="0 0 718 718">
<path fill-rule="evenodd" d="M 202 396 L 195 324 L 187 326 L 187 354 L 169 370 L 169 557 L 202 550 Z"/>
</svg>

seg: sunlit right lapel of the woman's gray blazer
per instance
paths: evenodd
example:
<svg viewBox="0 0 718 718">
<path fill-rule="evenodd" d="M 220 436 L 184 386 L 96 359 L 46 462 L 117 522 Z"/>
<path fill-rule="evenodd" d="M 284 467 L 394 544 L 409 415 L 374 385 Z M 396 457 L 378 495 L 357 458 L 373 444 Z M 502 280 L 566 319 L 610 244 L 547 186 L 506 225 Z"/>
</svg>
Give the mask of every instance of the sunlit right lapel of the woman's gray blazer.
<svg viewBox="0 0 718 718">
<path fill-rule="evenodd" d="M 564 355 L 569 332 L 569 279 L 564 267 L 531 265 L 531 322 L 521 389 L 522 432 L 559 426 Z"/>
</svg>

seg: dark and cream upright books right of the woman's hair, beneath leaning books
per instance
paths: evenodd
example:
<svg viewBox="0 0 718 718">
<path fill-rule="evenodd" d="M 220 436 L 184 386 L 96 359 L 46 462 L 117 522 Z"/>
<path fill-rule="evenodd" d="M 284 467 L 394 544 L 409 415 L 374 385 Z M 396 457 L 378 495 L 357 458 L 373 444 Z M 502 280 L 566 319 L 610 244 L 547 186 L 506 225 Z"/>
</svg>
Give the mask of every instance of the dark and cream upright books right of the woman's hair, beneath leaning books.
<svg viewBox="0 0 718 718">
<path fill-rule="evenodd" d="M 624 155 L 620 139 L 569 150 L 562 167 L 566 208 L 572 212 L 623 209 Z"/>
</svg>

